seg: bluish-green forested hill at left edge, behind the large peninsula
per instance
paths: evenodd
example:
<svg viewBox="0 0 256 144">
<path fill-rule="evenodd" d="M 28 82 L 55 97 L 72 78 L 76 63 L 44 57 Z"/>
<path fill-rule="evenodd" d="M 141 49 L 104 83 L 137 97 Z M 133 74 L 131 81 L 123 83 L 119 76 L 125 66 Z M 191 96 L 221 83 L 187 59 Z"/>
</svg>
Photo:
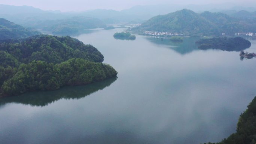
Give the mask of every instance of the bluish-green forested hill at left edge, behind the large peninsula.
<svg viewBox="0 0 256 144">
<path fill-rule="evenodd" d="M 41 34 L 31 28 L 24 28 L 6 19 L 0 18 L 0 40 L 23 39 L 30 36 Z"/>
</svg>

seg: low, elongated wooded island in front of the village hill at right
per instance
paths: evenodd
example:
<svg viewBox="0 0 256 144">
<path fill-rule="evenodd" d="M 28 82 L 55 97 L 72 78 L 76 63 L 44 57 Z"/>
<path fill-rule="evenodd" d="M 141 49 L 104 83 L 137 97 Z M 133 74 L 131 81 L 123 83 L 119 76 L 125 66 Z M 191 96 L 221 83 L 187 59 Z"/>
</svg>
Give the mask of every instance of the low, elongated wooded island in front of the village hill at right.
<svg viewBox="0 0 256 144">
<path fill-rule="evenodd" d="M 221 49 L 226 51 L 241 51 L 250 48 L 251 43 L 242 37 L 213 37 L 196 41 L 199 49 Z"/>
</svg>

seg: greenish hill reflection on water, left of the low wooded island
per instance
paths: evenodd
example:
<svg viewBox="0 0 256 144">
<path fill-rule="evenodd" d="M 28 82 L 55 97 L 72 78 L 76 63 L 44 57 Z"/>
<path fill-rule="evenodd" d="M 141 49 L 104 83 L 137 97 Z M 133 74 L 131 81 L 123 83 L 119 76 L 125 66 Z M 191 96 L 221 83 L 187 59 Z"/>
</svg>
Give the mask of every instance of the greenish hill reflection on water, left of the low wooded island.
<svg viewBox="0 0 256 144">
<path fill-rule="evenodd" d="M 195 44 L 199 37 L 184 37 L 183 42 L 173 42 L 170 38 L 165 39 L 156 39 L 155 37 L 145 37 L 152 43 L 157 45 L 167 45 L 170 49 L 175 50 L 176 52 L 184 55 L 186 53 L 190 53 L 194 50 L 199 50 L 198 45 Z"/>
</svg>

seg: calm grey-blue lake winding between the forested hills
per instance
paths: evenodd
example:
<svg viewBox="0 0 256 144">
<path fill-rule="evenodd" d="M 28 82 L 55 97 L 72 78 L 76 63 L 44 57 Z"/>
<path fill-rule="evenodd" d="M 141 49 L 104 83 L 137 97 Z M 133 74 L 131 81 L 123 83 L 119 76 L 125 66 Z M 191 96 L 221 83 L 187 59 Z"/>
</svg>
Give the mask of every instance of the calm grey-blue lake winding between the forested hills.
<svg viewBox="0 0 256 144">
<path fill-rule="evenodd" d="M 1 144 L 200 144 L 235 132 L 256 96 L 255 58 L 199 50 L 114 30 L 76 38 L 95 46 L 118 78 L 0 98 Z M 245 51 L 256 52 L 256 40 Z"/>
</svg>

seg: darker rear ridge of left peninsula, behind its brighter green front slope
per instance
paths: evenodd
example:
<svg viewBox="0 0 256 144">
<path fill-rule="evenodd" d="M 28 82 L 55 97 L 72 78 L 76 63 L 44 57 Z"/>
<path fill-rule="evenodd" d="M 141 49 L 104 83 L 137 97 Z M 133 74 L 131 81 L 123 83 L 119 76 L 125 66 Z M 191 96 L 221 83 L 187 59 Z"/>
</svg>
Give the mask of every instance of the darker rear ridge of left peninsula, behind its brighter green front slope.
<svg viewBox="0 0 256 144">
<path fill-rule="evenodd" d="M 13 40 L 14 41 L 14 40 Z M 39 35 L 19 40 L 18 43 L 2 42 L 4 50 L 22 63 L 40 60 L 49 63 L 60 63 L 71 58 L 83 58 L 94 62 L 103 62 L 103 55 L 92 45 L 84 45 L 69 36 L 57 37 Z"/>
</svg>

